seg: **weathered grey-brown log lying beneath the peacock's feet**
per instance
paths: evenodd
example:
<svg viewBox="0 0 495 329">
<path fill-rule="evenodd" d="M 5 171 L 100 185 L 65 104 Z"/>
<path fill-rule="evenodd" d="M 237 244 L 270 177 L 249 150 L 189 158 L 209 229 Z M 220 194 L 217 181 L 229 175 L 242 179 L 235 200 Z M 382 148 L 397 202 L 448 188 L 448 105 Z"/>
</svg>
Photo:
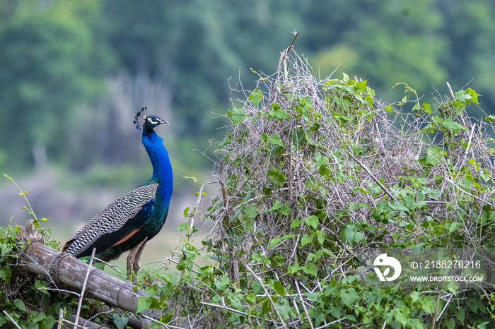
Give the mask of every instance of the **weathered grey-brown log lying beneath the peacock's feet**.
<svg viewBox="0 0 495 329">
<path fill-rule="evenodd" d="M 55 285 L 62 284 L 71 287 L 74 292 L 81 292 L 88 264 L 78 261 L 69 253 L 61 253 L 40 242 L 28 244 L 21 257 L 25 270 L 50 277 Z M 147 296 L 144 290 L 134 291 L 132 283 L 122 281 L 98 268 L 92 267 L 90 271 L 85 297 L 136 313 L 137 301 L 140 297 Z M 147 315 L 153 318 L 160 316 L 156 310 Z"/>
</svg>

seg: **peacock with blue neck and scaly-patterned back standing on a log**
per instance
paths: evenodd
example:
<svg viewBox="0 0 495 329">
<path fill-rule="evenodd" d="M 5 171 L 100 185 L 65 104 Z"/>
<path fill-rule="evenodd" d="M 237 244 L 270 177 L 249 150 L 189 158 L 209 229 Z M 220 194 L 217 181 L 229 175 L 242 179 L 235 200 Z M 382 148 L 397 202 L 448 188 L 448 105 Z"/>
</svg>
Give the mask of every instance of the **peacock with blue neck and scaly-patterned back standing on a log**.
<svg viewBox="0 0 495 329">
<path fill-rule="evenodd" d="M 145 116 L 145 109 L 137 112 L 134 124 L 140 130 L 142 123 L 141 141 L 153 165 L 151 179 L 125 193 L 93 217 L 67 241 L 63 250 L 76 258 L 88 260 L 95 248 L 95 256 L 105 262 L 130 250 L 127 275 L 130 275 L 131 265 L 137 273 L 146 242 L 163 227 L 173 191 L 168 151 L 163 146 L 163 139 L 154 131 L 157 126 L 168 122 L 158 116 Z"/>
</svg>

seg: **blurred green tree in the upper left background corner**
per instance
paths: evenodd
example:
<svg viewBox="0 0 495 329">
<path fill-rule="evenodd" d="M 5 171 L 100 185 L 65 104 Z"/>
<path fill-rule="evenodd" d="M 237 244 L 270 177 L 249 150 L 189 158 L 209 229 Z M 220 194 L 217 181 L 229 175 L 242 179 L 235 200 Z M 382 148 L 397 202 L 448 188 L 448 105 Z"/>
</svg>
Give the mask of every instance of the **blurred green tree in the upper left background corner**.
<svg viewBox="0 0 495 329">
<path fill-rule="evenodd" d="M 59 1 L 50 10 L 23 3 L 4 23 L 0 116 L 8 124 L 0 149 L 9 169 L 43 162 L 47 150 L 56 157 L 76 126 L 74 106 L 101 92 L 103 56 L 85 19 L 97 9 L 90 1 Z"/>
</svg>

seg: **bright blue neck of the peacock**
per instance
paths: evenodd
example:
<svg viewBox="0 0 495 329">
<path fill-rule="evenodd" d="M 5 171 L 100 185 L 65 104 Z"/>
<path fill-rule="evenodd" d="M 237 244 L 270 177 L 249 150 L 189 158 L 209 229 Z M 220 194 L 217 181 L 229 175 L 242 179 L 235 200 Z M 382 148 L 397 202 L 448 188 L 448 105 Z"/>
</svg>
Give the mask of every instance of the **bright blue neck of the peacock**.
<svg viewBox="0 0 495 329">
<path fill-rule="evenodd" d="M 153 165 L 151 179 L 158 180 L 156 207 L 163 211 L 168 210 L 173 190 L 173 174 L 168 152 L 163 146 L 163 139 L 155 131 L 143 131 L 141 140 Z"/>
</svg>

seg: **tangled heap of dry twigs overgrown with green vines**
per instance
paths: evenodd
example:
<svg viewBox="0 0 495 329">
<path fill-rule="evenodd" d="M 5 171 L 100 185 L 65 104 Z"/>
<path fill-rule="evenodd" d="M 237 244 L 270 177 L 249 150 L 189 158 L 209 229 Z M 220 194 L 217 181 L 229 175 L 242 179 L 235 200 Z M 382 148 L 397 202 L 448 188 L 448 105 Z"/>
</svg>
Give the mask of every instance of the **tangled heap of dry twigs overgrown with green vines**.
<svg viewBox="0 0 495 329">
<path fill-rule="evenodd" d="M 303 280 L 313 292 L 349 275 L 349 259 L 366 249 L 491 241 L 493 227 L 479 219 L 494 202 L 494 131 L 489 117 L 465 112 L 477 104 L 474 90 L 433 111 L 419 100 L 384 104 L 366 81 L 318 80 L 293 49 L 255 90 L 240 88 L 209 213 L 235 282 L 257 273 L 294 292 Z M 452 222 L 457 235 L 433 234 Z"/>
</svg>

